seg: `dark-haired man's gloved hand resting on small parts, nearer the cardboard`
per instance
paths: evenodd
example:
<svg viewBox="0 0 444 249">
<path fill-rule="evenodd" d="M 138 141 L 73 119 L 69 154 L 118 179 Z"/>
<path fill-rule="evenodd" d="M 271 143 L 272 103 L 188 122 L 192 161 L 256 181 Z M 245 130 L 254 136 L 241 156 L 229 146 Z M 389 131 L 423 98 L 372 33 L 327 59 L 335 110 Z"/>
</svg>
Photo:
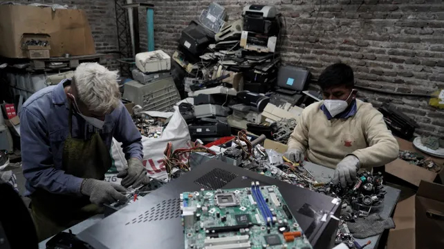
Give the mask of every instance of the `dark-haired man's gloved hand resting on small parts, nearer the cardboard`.
<svg viewBox="0 0 444 249">
<path fill-rule="evenodd" d="M 342 161 L 337 163 L 333 184 L 341 183 L 342 188 L 345 188 L 347 183 L 354 183 L 359 166 L 360 162 L 358 157 L 354 155 L 344 157 Z"/>
</svg>

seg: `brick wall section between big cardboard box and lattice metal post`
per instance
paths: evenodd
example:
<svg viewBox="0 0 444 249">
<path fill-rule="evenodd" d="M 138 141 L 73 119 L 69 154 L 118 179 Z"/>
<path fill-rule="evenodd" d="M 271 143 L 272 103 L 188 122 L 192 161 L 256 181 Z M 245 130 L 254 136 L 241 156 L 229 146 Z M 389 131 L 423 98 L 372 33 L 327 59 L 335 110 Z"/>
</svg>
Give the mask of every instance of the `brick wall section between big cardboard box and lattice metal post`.
<svg viewBox="0 0 444 249">
<path fill-rule="evenodd" d="M 16 3 L 29 4 L 29 3 L 45 3 L 45 4 L 66 4 L 69 8 L 74 6 L 80 10 L 86 12 L 89 25 L 93 33 L 95 42 L 95 50 L 98 53 L 107 53 L 107 66 L 111 69 L 117 69 L 118 64 L 115 61 L 117 54 L 112 53 L 118 50 L 117 43 L 117 30 L 115 27 L 115 9 L 113 0 L 40 0 L 40 1 L 28 1 L 28 0 L 16 0 Z"/>
</svg>

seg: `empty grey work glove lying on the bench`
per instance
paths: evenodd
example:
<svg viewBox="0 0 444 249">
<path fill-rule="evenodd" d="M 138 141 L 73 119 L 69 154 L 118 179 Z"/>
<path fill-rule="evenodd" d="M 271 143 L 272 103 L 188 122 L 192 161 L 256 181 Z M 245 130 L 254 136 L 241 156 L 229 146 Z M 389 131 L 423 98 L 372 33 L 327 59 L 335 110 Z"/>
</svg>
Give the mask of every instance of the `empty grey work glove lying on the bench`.
<svg viewBox="0 0 444 249">
<path fill-rule="evenodd" d="M 380 215 L 373 214 L 364 219 L 357 219 L 355 222 L 347 222 L 350 232 L 357 239 L 364 239 L 373 235 L 379 235 L 385 229 L 395 228 L 393 219 L 382 219 Z"/>
</svg>

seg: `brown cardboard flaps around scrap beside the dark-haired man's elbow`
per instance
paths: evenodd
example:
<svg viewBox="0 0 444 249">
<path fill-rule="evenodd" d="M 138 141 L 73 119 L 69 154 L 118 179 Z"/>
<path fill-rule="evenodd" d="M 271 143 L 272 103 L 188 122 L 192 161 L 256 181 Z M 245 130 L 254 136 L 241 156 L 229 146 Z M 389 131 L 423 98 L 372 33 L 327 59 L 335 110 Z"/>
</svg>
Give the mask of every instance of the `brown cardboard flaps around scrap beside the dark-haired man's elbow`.
<svg viewBox="0 0 444 249">
<path fill-rule="evenodd" d="M 444 159 L 432 157 L 423 152 L 420 152 L 419 150 L 414 148 L 413 143 L 404 139 L 400 139 L 398 137 L 396 137 L 396 139 L 398 140 L 400 150 L 418 152 L 425 157 L 432 158 L 436 163 L 441 164 L 441 166 L 442 163 L 444 163 Z M 395 177 L 398 177 L 400 179 L 403 179 L 413 184 L 414 186 L 419 186 L 420 181 L 444 182 L 444 170 L 441 170 L 441 174 L 438 174 L 425 168 L 410 164 L 402 159 L 396 159 L 391 163 L 387 163 L 385 166 L 385 172 L 389 173 L 390 175 L 394 175 Z"/>
</svg>

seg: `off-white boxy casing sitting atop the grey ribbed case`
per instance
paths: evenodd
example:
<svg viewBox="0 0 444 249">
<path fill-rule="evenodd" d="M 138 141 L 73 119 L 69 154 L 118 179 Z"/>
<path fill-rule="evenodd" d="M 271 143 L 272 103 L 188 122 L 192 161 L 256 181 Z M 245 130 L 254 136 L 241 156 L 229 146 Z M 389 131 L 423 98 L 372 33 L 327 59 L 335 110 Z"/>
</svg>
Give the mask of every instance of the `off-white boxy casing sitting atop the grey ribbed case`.
<svg viewBox="0 0 444 249">
<path fill-rule="evenodd" d="M 136 67 L 142 72 L 159 72 L 171 69 L 171 57 L 162 50 L 136 54 Z"/>
</svg>

